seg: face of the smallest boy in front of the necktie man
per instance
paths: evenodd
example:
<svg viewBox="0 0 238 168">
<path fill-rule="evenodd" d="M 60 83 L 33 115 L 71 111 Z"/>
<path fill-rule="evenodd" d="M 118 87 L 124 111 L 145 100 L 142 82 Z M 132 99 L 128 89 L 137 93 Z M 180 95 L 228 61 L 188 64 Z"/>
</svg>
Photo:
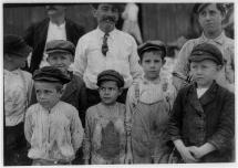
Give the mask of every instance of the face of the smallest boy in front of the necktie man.
<svg viewBox="0 0 238 168">
<path fill-rule="evenodd" d="M 99 92 L 102 103 L 106 105 L 112 105 L 116 103 L 117 97 L 122 93 L 116 82 L 114 81 L 102 82 Z"/>
</svg>

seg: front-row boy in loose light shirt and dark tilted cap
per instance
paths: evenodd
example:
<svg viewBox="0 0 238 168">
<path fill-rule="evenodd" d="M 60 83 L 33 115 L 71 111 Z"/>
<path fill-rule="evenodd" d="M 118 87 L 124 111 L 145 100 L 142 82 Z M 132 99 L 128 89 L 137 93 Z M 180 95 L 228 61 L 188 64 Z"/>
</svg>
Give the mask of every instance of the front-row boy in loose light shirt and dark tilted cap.
<svg viewBox="0 0 238 168">
<path fill-rule="evenodd" d="M 33 74 L 38 103 L 30 106 L 24 123 L 31 145 L 28 157 L 38 165 L 69 165 L 83 140 L 79 113 L 60 101 L 70 78 L 56 67 L 44 66 Z"/>
</svg>

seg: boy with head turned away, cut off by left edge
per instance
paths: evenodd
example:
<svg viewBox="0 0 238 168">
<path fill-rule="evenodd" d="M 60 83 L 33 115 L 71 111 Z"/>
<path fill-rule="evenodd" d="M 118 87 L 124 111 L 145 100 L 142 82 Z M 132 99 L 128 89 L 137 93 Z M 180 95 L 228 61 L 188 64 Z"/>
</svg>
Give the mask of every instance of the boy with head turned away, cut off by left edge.
<svg viewBox="0 0 238 168">
<path fill-rule="evenodd" d="M 8 34 L 3 38 L 4 80 L 4 165 L 21 165 L 25 161 L 27 141 L 23 122 L 33 86 L 30 73 L 22 71 L 31 48 L 21 36 Z M 24 158 L 23 158 L 24 157 Z M 24 159 L 24 160 L 23 160 Z M 27 162 L 23 162 L 27 164 Z"/>
</svg>

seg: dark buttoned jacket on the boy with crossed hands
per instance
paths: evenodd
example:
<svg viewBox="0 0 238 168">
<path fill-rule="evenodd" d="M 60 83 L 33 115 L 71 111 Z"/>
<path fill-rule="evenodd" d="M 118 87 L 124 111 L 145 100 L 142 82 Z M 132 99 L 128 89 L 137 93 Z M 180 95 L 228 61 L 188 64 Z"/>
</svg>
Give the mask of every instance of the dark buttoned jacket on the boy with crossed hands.
<svg viewBox="0 0 238 168">
<path fill-rule="evenodd" d="M 235 135 L 235 95 L 216 82 L 198 99 L 196 85 L 178 92 L 168 127 L 172 140 L 182 139 L 185 146 L 210 143 L 216 150 L 201 162 L 230 161 Z"/>
</svg>

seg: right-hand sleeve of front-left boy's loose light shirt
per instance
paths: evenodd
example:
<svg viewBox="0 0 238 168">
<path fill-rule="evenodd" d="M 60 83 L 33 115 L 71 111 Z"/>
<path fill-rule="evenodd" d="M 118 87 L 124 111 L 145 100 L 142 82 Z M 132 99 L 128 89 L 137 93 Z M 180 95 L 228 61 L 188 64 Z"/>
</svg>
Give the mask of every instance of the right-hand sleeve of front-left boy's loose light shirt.
<svg viewBox="0 0 238 168">
<path fill-rule="evenodd" d="M 72 135 L 72 145 L 73 145 L 74 151 L 76 151 L 82 146 L 83 136 L 84 136 L 82 123 L 80 120 L 76 109 L 74 111 L 72 116 L 71 135 Z"/>
</svg>

